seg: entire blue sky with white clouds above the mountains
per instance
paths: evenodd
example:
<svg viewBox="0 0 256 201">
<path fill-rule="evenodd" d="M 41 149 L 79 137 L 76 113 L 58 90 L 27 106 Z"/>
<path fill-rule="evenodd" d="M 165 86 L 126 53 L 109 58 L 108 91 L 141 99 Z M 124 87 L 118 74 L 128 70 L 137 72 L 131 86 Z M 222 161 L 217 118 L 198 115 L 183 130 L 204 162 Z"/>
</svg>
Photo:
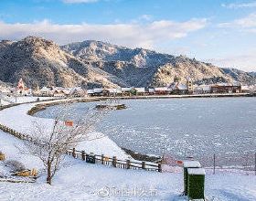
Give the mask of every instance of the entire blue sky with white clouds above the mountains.
<svg viewBox="0 0 256 201">
<path fill-rule="evenodd" d="M 0 0 L 0 39 L 95 39 L 256 71 L 256 1 Z"/>
</svg>

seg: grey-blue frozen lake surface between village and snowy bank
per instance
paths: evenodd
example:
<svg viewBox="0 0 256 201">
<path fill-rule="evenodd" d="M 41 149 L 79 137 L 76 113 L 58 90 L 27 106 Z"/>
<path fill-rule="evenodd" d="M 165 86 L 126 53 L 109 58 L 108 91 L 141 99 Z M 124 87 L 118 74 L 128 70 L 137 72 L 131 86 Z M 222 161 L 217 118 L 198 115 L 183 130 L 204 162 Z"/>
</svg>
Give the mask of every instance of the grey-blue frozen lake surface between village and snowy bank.
<svg viewBox="0 0 256 201">
<path fill-rule="evenodd" d="M 165 149 L 165 153 L 176 158 L 194 156 L 206 161 L 213 153 L 231 158 L 255 153 L 255 98 L 121 100 L 120 103 L 128 108 L 112 111 L 97 129 L 121 147 L 157 155 Z M 96 104 L 99 102 L 74 103 L 70 111 L 79 118 L 81 111 Z M 61 107 L 49 107 L 36 116 L 53 117 Z"/>
</svg>

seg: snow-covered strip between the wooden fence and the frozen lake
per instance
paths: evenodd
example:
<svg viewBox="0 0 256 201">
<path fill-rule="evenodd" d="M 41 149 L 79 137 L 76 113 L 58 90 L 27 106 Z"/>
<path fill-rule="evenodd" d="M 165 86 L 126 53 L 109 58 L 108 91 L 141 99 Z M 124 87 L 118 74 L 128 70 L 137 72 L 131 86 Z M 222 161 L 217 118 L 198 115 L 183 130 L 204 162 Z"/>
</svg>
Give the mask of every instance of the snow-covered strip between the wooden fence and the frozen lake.
<svg viewBox="0 0 256 201">
<path fill-rule="evenodd" d="M 37 103 L 21 104 L 0 111 L 0 123 L 16 130 L 17 132 L 30 134 L 33 132 L 33 124 L 37 122 L 43 128 L 46 128 L 45 132 L 50 132 L 53 120 L 33 117 L 27 114 L 27 111 L 36 104 Z M 129 157 L 119 146 L 117 146 L 116 143 L 113 143 L 108 136 L 93 141 L 82 142 L 78 145 L 77 149 L 84 150 L 87 153 L 93 152 L 97 154 L 105 154 L 111 157 L 117 156 L 119 159 L 127 159 Z"/>
</svg>

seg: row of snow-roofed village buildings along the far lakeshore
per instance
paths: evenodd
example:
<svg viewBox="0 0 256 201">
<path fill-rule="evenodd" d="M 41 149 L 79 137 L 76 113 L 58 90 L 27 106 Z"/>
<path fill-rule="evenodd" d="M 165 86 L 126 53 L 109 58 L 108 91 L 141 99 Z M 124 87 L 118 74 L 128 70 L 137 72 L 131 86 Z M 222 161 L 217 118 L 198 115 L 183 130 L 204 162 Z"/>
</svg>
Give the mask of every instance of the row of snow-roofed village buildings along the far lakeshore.
<svg viewBox="0 0 256 201">
<path fill-rule="evenodd" d="M 0 89 L 2 93 L 10 93 L 14 95 L 25 96 L 52 96 L 52 97 L 84 97 L 84 96 L 143 96 L 143 95 L 168 95 L 168 94 L 205 94 L 205 93 L 240 93 L 255 91 L 256 86 L 241 86 L 239 83 L 213 84 L 213 85 L 193 85 L 192 81 L 187 84 L 175 81 L 167 87 L 157 88 L 96 88 L 84 90 L 80 87 L 76 88 L 60 88 L 60 87 L 43 87 L 42 89 L 31 90 L 25 87 L 22 79 L 14 89 Z"/>
</svg>

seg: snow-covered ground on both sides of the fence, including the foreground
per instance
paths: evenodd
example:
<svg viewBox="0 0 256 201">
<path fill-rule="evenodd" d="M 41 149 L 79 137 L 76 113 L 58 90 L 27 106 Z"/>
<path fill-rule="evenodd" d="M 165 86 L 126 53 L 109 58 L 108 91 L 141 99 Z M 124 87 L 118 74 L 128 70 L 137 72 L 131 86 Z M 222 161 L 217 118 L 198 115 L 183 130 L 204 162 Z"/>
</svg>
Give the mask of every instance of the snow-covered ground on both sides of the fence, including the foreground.
<svg viewBox="0 0 256 201">
<path fill-rule="evenodd" d="M 27 115 L 35 103 L 18 105 L 0 111 L 0 123 L 19 132 L 31 131 L 31 123 L 38 121 L 50 125 L 51 120 Z M 91 143 L 91 142 L 90 142 Z M 127 155 L 109 138 L 80 144 L 88 152 Z M 0 150 L 7 159 L 16 159 L 27 168 L 43 168 L 34 156 L 19 153 L 16 147 L 22 141 L 0 131 Z M 82 148 L 83 147 L 83 148 Z M 0 162 L 0 172 L 5 172 Z M 179 196 L 183 191 L 183 174 L 157 173 L 143 170 L 123 170 L 101 164 L 86 164 L 67 156 L 65 164 L 53 179 L 53 185 L 45 184 L 45 175 L 35 184 L 11 184 L 0 182 L 0 200 L 186 200 Z M 256 200 L 256 176 L 244 174 L 206 175 L 206 196 L 209 200 L 247 201 Z"/>
</svg>

